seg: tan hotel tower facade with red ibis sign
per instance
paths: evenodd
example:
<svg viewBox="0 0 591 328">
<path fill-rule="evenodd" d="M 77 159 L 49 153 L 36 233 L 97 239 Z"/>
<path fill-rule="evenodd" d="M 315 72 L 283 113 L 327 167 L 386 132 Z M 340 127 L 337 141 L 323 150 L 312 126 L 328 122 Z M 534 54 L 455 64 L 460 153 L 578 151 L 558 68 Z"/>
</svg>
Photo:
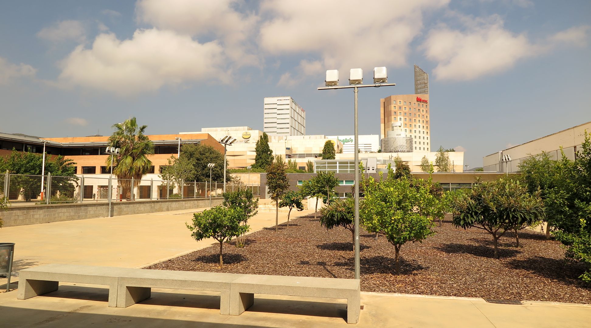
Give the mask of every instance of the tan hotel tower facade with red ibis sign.
<svg viewBox="0 0 591 328">
<path fill-rule="evenodd" d="M 412 139 L 413 152 L 431 151 L 428 94 L 398 94 L 380 99 L 381 138 L 400 128 Z"/>
</svg>

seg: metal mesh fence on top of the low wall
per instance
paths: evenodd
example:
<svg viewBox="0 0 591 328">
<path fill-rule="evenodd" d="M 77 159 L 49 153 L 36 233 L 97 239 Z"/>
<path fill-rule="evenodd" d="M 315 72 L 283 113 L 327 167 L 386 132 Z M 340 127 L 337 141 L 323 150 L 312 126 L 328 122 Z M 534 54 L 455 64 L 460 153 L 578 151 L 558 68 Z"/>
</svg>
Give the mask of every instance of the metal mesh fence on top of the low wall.
<svg viewBox="0 0 591 328">
<path fill-rule="evenodd" d="M 46 205 L 111 201 L 150 201 L 155 199 L 187 199 L 221 196 L 222 182 L 188 182 L 94 178 L 92 175 L 52 176 L 0 175 L 0 198 L 7 197 L 14 205 Z M 44 193 L 41 191 L 44 189 Z M 259 195 L 258 185 L 226 182 L 226 191 L 251 189 Z"/>
</svg>

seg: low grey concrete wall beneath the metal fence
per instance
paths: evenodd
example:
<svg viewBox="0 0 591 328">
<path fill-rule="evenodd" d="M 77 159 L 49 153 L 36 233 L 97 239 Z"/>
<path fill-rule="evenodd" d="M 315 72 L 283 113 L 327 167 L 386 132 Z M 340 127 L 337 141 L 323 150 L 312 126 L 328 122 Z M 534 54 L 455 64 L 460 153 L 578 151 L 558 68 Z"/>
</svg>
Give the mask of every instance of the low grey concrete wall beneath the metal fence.
<svg viewBox="0 0 591 328">
<path fill-rule="evenodd" d="M 212 197 L 212 206 L 222 204 L 222 197 Z M 113 202 L 113 217 L 118 215 L 176 211 L 178 209 L 209 207 L 209 198 L 158 199 L 154 201 Z M 108 203 L 53 204 L 15 206 L 0 212 L 4 227 L 59 221 L 108 217 Z"/>
</svg>

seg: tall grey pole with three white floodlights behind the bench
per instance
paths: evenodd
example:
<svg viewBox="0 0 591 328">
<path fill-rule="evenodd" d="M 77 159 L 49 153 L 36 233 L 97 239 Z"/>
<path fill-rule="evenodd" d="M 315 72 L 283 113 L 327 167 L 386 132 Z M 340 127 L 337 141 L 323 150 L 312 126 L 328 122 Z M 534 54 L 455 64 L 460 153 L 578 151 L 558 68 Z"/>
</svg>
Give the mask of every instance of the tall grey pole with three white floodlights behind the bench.
<svg viewBox="0 0 591 328">
<path fill-rule="evenodd" d="M 374 84 L 363 85 L 363 71 L 361 68 L 352 68 L 349 71 L 349 86 L 339 86 L 339 71 L 326 71 L 324 85 L 326 87 L 318 90 L 353 88 L 354 109 L 353 119 L 355 121 L 355 279 L 359 279 L 359 130 L 357 124 L 357 92 L 358 88 L 364 87 L 388 87 L 395 86 L 396 83 L 387 83 L 388 74 L 385 67 L 374 68 Z"/>
</svg>

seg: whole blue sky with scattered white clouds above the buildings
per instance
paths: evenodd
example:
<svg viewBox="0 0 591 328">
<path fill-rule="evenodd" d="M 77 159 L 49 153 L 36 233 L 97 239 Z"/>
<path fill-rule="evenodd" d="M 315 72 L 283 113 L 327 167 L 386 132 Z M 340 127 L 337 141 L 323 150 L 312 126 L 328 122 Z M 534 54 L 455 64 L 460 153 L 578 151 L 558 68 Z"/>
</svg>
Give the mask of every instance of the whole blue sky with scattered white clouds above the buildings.
<svg viewBox="0 0 591 328">
<path fill-rule="evenodd" d="M 359 133 L 379 100 L 429 74 L 431 146 L 482 157 L 591 121 L 591 2 L 5 1 L 0 132 L 110 135 L 250 126 L 263 98 L 291 96 L 308 135 L 352 135 L 352 90 L 319 91 L 326 70 L 388 68 L 359 90 Z"/>
</svg>

